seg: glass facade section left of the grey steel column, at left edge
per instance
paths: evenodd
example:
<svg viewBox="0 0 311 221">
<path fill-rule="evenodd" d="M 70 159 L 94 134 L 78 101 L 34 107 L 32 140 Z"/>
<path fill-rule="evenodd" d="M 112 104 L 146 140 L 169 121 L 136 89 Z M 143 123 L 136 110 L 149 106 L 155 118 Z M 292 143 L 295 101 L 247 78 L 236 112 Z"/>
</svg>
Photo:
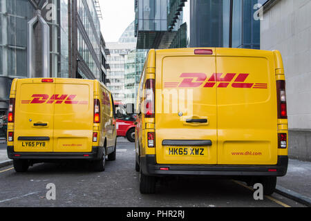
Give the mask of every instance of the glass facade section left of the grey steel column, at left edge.
<svg viewBox="0 0 311 221">
<path fill-rule="evenodd" d="M 27 77 L 28 0 L 0 0 L 0 77 Z"/>
</svg>

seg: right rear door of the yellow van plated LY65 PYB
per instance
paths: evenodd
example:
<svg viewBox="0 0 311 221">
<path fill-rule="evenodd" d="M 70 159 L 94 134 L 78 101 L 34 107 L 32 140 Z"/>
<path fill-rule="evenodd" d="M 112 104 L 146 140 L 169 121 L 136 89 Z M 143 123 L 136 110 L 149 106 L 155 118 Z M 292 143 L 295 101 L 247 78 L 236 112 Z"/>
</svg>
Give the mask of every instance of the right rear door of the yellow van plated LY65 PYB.
<svg viewBox="0 0 311 221">
<path fill-rule="evenodd" d="M 54 152 L 91 152 L 93 81 L 56 79 L 55 94 L 69 99 L 55 104 Z"/>
</svg>

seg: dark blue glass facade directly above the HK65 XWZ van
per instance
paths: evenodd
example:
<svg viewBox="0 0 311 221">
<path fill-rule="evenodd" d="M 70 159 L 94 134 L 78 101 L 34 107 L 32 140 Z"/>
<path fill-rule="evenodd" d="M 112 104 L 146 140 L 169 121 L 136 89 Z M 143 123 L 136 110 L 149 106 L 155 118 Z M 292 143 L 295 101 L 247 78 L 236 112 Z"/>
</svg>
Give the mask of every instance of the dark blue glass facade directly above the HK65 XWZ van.
<svg viewBox="0 0 311 221">
<path fill-rule="evenodd" d="M 259 49 L 260 20 L 254 19 L 257 3 L 258 0 L 190 1 L 189 47 Z"/>
</svg>

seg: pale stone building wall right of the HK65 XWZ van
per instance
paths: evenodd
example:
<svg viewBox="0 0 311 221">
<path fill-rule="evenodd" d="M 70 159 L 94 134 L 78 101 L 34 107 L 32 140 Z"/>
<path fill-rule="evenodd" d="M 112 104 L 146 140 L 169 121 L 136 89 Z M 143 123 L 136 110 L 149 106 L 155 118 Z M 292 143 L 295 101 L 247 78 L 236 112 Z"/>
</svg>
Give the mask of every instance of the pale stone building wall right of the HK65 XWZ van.
<svg viewBox="0 0 311 221">
<path fill-rule="evenodd" d="M 289 155 L 311 161 L 311 0 L 262 3 L 261 49 L 280 50 L 283 57 Z"/>
</svg>

